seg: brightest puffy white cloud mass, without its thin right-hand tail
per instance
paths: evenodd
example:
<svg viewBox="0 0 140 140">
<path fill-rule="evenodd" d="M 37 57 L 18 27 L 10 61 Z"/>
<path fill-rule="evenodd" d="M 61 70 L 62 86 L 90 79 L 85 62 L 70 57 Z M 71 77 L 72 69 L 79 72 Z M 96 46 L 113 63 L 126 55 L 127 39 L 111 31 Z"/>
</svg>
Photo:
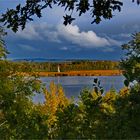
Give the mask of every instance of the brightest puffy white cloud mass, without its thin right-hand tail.
<svg viewBox="0 0 140 140">
<path fill-rule="evenodd" d="M 59 25 L 57 29 L 61 37 L 81 47 L 97 48 L 110 46 L 108 39 L 97 36 L 93 31 L 81 32 L 77 25 Z"/>
</svg>

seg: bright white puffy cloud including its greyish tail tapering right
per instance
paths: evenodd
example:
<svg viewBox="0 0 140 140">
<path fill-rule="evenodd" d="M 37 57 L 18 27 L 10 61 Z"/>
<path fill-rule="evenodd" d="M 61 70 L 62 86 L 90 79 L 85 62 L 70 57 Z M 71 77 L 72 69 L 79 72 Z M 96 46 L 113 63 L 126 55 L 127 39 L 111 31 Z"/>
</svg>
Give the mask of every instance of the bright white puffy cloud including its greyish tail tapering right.
<svg viewBox="0 0 140 140">
<path fill-rule="evenodd" d="M 87 32 L 80 31 L 77 25 L 58 25 L 57 34 L 58 37 L 60 36 L 81 48 L 101 48 L 101 51 L 104 52 L 112 52 L 115 50 L 113 46 L 121 46 L 122 44 L 122 42 L 111 39 L 108 36 L 100 37 L 92 30 Z"/>
</svg>

